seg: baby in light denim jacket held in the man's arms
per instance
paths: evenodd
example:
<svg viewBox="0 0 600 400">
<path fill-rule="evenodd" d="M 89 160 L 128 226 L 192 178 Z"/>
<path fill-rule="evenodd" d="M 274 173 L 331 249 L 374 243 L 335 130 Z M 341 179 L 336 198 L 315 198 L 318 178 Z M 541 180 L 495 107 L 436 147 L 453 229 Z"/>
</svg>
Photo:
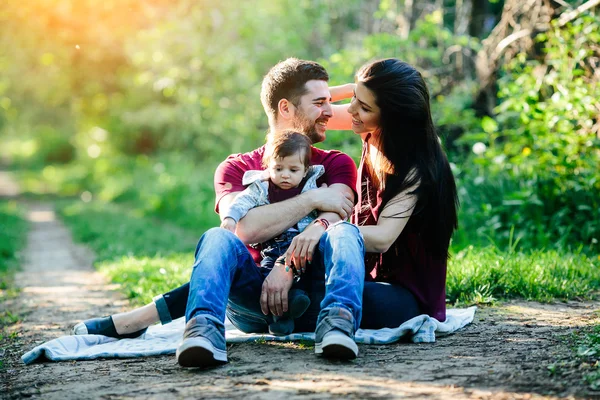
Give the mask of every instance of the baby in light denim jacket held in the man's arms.
<svg viewBox="0 0 600 400">
<path fill-rule="evenodd" d="M 275 201 L 287 200 L 310 189 L 317 188 L 317 179 L 323 175 L 322 165 L 310 165 L 311 146 L 301 133 L 286 131 L 269 140 L 263 155 L 264 171 L 246 171 L 243 184 L 248 187 L 239 193 L 229 210 L 221 216 L 221 228 L 235 233 L 235 228 L 250 209 Z M 261 243 L 261 267 L 271 270 L 282 256 L 292 239 L 314 222 L 317 212 L 302 218 L 281 235 Z M 279 260 L 278 260 L 279 259 Z M 273 316 L 269 332 L 273 335 L 288 335 L 294 330 L 294 319 L 304 314 L 310 305 L 306 292 L 292 288 L 288 295 L 289 311 L 283 317 Z"/>
</svg>

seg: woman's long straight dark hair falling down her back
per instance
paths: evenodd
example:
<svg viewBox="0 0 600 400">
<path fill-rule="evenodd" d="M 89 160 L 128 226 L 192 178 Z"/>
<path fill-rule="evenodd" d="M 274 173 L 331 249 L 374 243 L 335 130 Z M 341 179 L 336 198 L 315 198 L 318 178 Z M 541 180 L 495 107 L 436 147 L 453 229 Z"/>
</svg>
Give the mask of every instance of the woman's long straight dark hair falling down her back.
<svg viewBox="0 0 600 400">
<path fill-rule="evenodd" d="M 385 171 L 379 183 L 383 188 L 380 210 L 398 193 L 418 184 L 411 219 L 418 223 L 427 251 L 447 258 L 450 238 L 458 227 L 458 197 L 450 164 L 435 133 L 423 77 L 405 62 L 385 59 L 365 65 L 356 78 L 373 93 L 381 111 L 375 140 L 383 159 L 371 166 Z"/>
</svg>

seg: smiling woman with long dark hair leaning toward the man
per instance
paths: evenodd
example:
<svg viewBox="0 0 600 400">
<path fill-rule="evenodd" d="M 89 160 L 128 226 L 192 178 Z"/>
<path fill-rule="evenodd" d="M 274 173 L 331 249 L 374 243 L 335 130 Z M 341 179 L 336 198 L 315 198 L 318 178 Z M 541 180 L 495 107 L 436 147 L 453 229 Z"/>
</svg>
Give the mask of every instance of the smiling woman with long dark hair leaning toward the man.
<svg viewBox="0 0 600 400">
<path fill-rule="evenodd" d="M 444 321 L 458 200 L 425 82 L 410 65 L 386 59 L 365 65 L 356 84 L 331 88 L 331 94 L 334 101 L 350 96 L 352 101 L 336 106 L 328 128 L 351 127 L 363 141 L 352 216 L 367 251 L 360 326 L 397 327 L 420 314 Z M 74 333 L 139 336 L 159 320 L 185 315 L 188 290 L 184 285 L 144 307 L 85 321 Z M 297 330 L 314 330 L 315 322 L 297 324 Z"/>
</svg>

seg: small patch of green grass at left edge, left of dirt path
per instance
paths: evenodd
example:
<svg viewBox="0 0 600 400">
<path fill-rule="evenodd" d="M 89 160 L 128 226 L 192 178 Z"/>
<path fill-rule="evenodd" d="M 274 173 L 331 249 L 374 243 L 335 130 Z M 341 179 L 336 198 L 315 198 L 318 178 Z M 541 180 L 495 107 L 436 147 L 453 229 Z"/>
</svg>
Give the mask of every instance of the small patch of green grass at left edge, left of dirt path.
<svg viewBox="0 0 600 400">
<path fill-rule="evenodd" d="M 24 210 L 14 200 L 0 201 L 0 290 L 11 286 L 26 233 Z"/>
</svg>

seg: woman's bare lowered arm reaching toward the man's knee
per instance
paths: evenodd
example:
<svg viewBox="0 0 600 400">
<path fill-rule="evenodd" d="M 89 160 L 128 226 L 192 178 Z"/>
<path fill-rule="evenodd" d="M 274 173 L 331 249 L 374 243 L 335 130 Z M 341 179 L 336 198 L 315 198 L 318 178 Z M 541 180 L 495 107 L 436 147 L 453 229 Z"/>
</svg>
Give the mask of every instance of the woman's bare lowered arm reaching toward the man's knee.
<svg viewBox="0 0 600 400">
<path fill-rule="evenodd" d="M 409 194 L 416 188 L 415 185 L 394 196 L 379 215 L 377 225 L 358 227 L 365 239 L 367 252 L 385 253 L 394 244 L 417 204 L 417 196 Z"/>
</svg>

